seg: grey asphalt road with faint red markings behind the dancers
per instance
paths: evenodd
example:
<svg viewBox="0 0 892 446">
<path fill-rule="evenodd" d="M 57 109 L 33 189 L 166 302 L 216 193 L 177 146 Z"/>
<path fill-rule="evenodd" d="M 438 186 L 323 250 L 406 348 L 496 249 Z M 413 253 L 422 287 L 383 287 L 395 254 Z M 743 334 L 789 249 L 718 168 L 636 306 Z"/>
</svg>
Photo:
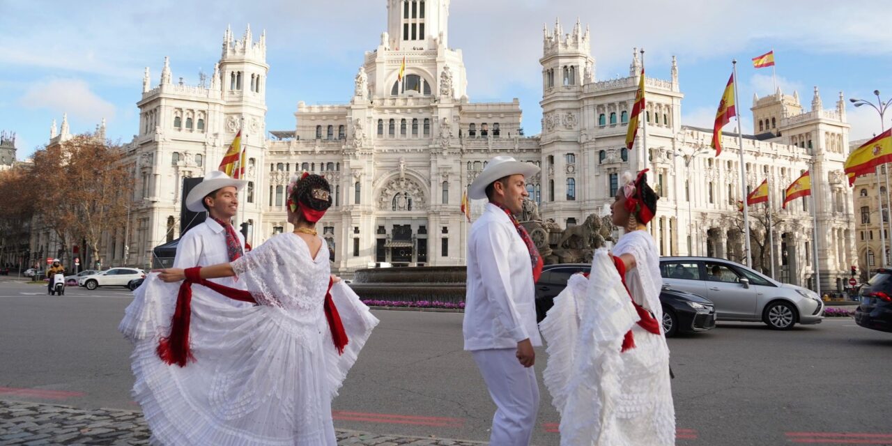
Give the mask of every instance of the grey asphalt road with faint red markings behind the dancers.
<svg viewBox="0 0 892 446">
<path fill-rule="evenodd" d="M 138 409 L 122 289 L 0 283 L 0 399 Z M 486 440 L 494 410 L 460 313 L 375 311 L 382 323 L 335 400 L 335 425 L 380 434 Z M 892 334 L 827 319 L 789 332 L 720 323 L 669 342 L 678 444 L 892 444 Z M 536 368 L 545 367 L 539 351 Z M 558 444 L 543 395 L 534 444 Z"/>
</svg>

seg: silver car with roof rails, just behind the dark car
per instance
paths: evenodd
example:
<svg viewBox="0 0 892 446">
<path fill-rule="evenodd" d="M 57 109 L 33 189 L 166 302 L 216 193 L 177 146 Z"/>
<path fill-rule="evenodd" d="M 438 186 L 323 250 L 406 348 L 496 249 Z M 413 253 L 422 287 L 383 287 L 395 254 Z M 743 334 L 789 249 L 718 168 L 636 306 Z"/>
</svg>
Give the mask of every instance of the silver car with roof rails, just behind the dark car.
<svg viewBox="0 0 892 446">
<path fill-rule="evenodd" d="M 762 321 L 775 330 L 823 320 L 824 304 L 814 291 L 781 284 L 731 260 L 661 257 L 660 274 L 665 286 L 713 301 L 718 320 Z"/>
</svg>

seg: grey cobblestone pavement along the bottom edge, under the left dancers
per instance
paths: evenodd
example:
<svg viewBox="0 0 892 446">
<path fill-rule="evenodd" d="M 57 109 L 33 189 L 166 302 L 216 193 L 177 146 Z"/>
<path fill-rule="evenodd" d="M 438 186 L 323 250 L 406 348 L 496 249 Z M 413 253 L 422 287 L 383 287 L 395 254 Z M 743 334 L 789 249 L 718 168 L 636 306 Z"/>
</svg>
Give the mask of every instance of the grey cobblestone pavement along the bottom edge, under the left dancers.
<svg viewBox="0 0 892 446">
<path fill-rule="evenodd" d="M 336 431 L 339 445 L 471 446 L 485 444 L 440 438 L 401 437 Z M 0 444 L 16 446 L 119 446 L 149 444 L 149 428 L 139 412 L 76 409 L 34 402 L 0 401 Z"/>
</svg>

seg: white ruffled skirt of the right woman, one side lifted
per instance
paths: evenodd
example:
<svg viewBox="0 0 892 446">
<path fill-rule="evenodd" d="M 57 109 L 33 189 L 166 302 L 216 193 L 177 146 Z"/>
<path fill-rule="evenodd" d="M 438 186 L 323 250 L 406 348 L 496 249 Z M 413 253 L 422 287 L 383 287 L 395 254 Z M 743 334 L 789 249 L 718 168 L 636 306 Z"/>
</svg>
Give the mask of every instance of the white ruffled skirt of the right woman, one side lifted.
<svg viewBox="0 0 892 446">
<path fill-rule="evenodd" d="M 663 336 L 636 324 L 606 250 L 595 253 L 590 279 L 580 279 L 571 277 L 540 324 L 549 355 L 543 377 L 561 415 L 561 444 L 674 444 Z M 620 352 L 630 329 L 636 347 Z"/>
</svg>

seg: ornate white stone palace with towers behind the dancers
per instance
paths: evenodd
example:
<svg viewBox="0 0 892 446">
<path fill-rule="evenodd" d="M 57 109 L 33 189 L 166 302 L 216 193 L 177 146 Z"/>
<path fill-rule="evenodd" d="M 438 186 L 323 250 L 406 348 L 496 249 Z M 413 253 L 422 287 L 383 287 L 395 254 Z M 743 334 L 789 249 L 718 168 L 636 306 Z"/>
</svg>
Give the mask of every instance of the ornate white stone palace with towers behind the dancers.
<svg viewBox="0 0 892 446">
<path fill-rule="evenodd" d="M 252 223 L 249 242 L 288 230 L 285 185 L 294 173 L 325 175 L 335 206 L 319 227 L 342 274 L 376 261 L 463 264 L 462 192 L 497 154 L 541 165 L 528 189 L 542 217 L 561 226 L 612 202 L 625 170 L 651 169 L 662 195 L 651 230 L 665 255 L 744 257 L 734 226 L 741 198 L 738 139 L 726 132 L 723 153 L 714 158 L 707 151 L 711 129 L 681 124 L 674 59 L 671 79 L 646 79 L 648 148 L 641 149 L 639 132 L 629 152 L 624 136 L 638 53 L 629 77 L 598 80 L 588 29 L 578 22 L 569 33 L 559 23 L 544 29 L 542 132 L 527 137 L 517 100 L 468 99 L 462 53 L 448 45 L 448 0 L 387 0 L 387 8 L 387 29 L 361 61 L 350 102 L 300 102 L 293 129 L 266 132 L 266 37 L 253 42 L 250 28 L 239 40 L 226 31 L 219 63 L 199 87 L 173 82 L 167 61 L 157 86 L 146 69 L 139 134 L 126 149 L 137 185 L 130 224 L 121 229 L 130 249 L 125 255 L 124 237 L 114 236 L 112 264 L 148 265 L 153 246 L 178 237 L 182 178 L 217 169 L 239 128 L 251 181 L 239 221 Z M 772 208 L 780 209 L 783 189 L 814 161 L 814 200 L 800 199 L 778 214 L 776 276 L 803 285 L 811 280 L 813 225 L 806 210 L 816 206 L 822 287 L 836 289 L 855 260 L 853 200 L 842 175 L 845 103 L 824 110 L 815 88 L 811 111 L 803 111 L 798 95 L 780 91 L 754 98 L 751 110 L 761 128 L 743 136 L 746 181 L 755 187 L 769 178 Z"/>
</svg>

